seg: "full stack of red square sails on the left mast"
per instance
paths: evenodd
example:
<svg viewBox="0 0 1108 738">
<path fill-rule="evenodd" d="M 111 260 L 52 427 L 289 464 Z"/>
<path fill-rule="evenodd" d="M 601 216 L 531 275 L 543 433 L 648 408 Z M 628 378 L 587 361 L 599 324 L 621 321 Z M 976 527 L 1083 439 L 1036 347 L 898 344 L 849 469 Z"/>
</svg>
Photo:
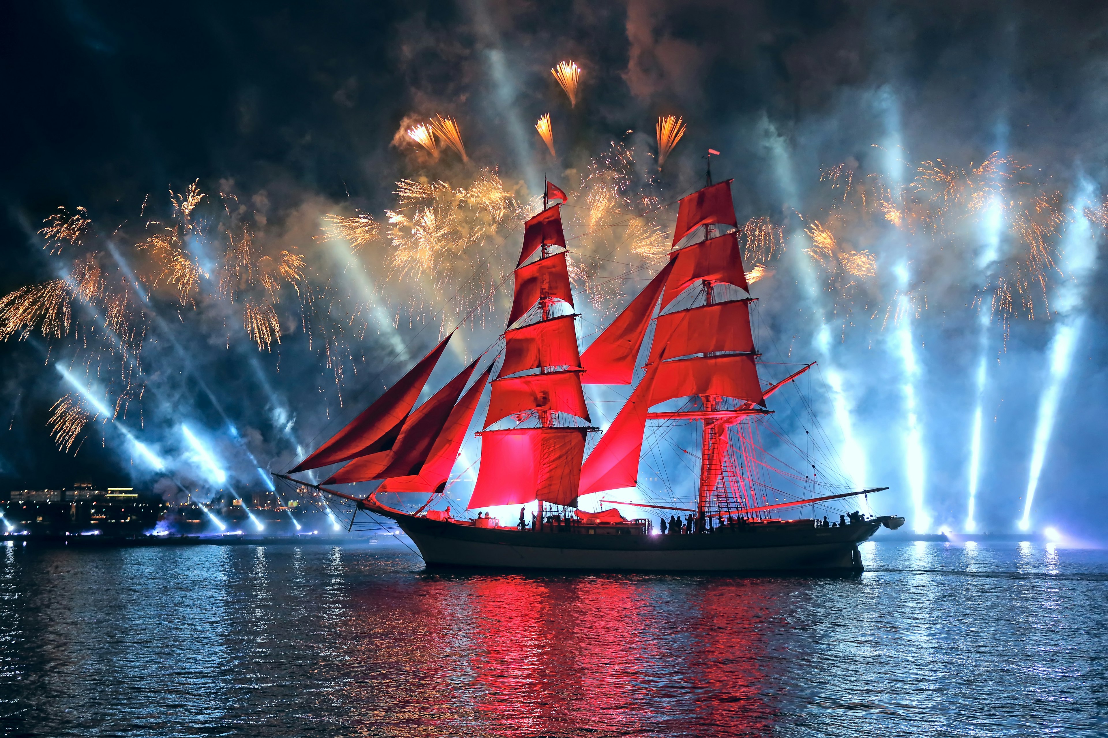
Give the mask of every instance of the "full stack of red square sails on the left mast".
<svg viewBox="0 0 1108 738">
<path fill-rule="evenodd" d="M 538 258 L 529 262 L 536 252 Z M 481 470 L 470 498 L 471 510 L 535 500 L 577 503 L 581 459 L 589 428 L 561 424 L 565 416 L 588 422 L 589 415 L 581 386 L 576 315 L 552 316 L 556 302 L 573 306 L 560 205 L 544 208 L 524 227 L 510 330 L 504 333 L 504 361 L 500 375 L 491 382 L 484 422 L 485 428 L 509 417 L 517 424 L 537 425 L 479 434 Z M 512 328 L 529 315 L 537 320 Z"/>
</svg>

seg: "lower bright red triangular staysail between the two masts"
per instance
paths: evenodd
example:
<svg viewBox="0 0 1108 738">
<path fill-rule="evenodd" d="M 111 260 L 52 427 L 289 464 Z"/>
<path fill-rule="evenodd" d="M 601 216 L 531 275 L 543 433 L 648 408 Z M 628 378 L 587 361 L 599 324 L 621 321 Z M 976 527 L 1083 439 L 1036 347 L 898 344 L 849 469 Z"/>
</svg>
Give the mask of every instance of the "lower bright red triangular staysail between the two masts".
<svg viewBox="0 0 1108 738">
<path fill-rule="evenodd" d="M 578 495 L 634 487 L 638 484 L 638 459 L 643 451 L 646 412 L 650 407 L 650 391 L 659 363 L 655 362 L 646 371 L 646 376 L 635 387 L 635 392 L 630 393 L 630 398 L 585 459 L 581 469 Z"/>
</svg>

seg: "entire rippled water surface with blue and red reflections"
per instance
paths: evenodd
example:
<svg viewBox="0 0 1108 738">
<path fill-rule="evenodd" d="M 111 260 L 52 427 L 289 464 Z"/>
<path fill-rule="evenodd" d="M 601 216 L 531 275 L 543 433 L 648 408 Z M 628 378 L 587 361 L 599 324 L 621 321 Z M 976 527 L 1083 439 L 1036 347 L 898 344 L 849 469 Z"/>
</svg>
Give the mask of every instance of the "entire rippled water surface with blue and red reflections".
<svg viewBox="0 0 1108 738">
<path fill-rule="evenodd" d="M 1108 553 L 443 575 L 382 545 L 0 547 L 3 735 L 1108 734 Z"/>
</svg>

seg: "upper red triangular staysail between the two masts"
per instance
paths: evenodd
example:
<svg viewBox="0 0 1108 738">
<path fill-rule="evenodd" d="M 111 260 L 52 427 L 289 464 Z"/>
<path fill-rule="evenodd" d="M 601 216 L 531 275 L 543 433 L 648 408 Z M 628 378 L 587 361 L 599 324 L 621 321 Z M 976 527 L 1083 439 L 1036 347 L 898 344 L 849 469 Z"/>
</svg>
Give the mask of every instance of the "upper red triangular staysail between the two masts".
<svg viewBox="0 0 1108 738">
<path fill-rule="evenodd" d="M 654 304 L 673 268 L 673 261 L 667 263 L 581 355 L 584 384 L 630 384 Z"/>
</svg>

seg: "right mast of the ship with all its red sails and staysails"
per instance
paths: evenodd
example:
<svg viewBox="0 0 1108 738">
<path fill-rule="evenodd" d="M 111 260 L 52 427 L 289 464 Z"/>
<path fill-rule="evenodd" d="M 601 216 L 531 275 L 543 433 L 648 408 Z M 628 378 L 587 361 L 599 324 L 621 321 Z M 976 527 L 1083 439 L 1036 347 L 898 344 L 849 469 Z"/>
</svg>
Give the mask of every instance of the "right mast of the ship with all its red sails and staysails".
<svg viewBox="0 0 1108 738">
<path fill-rule="evenodd" d="M 585 383 L 630 384 L 646 329 L 655 321 L 646 375 L 585 460 L 581 493 L 637 484 L 647 419 L 690 420 L 702 424 L 697 509 L 707 511 L 718 505 L 727 428 L 768 412 L 755 364 L 751 299 L 730 180 L 680 200 L 673 246 L 669 263 L 582 355 Z M 718 284 L 739 288 L 748 297 L 717 300 Z M 694 288 L 701 291 L 702 304 L 665 312 Z M 699 402 L 689 409 L 649 412 L 683 397 Z M 729 409 L 727 398 L 740 402 Z"/>
</svg>

